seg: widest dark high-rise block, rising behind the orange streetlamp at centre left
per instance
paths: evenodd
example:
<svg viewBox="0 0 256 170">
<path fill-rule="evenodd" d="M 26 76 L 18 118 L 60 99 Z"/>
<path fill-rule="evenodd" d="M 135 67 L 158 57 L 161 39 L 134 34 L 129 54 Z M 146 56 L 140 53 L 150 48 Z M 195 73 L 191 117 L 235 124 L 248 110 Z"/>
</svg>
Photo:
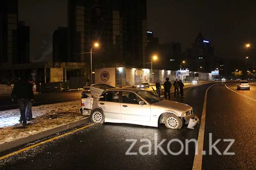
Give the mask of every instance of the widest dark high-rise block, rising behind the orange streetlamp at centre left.
<svg viewBox="0 0 256 170">
<path fill-rule="evenodd" d="M 100 50 L 115 48 L 127 65 L 140 66 L 146 60 L 146 0 L 69 0 L 68 61 L 90 61 L 94 42 Z M 81 54 L 82 53 L 82 54 Z M 101 56 L 103 57 L 103 56 Z"/>
</svg>

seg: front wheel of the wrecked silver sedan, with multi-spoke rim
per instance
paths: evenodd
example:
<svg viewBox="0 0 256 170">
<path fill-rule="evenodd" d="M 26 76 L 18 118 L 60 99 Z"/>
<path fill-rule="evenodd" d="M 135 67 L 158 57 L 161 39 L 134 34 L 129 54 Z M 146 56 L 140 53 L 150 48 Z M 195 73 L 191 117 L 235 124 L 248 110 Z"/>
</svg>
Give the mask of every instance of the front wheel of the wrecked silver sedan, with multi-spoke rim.
<svg viewBox="0 0 256 170">
<path fill-rule="evenodd" d="M 183 126 L 183 121 L 174 114 L 168 114 L 164 118 L 164 125 L 169 129 L 180 129 Z"/>
</svg>

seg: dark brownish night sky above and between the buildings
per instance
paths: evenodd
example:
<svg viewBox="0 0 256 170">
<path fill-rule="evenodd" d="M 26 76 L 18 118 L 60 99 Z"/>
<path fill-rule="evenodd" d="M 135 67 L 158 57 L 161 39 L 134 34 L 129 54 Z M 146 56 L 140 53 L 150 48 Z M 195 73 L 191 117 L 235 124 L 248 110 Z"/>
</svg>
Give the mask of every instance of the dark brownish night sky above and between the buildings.
<svg viewBox="0 0 256 170">
<path fill-rule="evenodd" d="M 19 0 L 19 20 L 30 26 L 31 58 L 35 56 L 35 60 L 51 52 L 53 31 L 58 26 L 67 26 L 67 1 L 52 2 Z M 247 54 L 244 44 L 253 43 L 256 37 L 256 2 L 184 2 L 148 0 L 148 29 L 159 37 L 160 43 L 180 42 L 184 50 L 201 32 L 215 47 L 216 56 L 244 58 Z"/>
</svg>

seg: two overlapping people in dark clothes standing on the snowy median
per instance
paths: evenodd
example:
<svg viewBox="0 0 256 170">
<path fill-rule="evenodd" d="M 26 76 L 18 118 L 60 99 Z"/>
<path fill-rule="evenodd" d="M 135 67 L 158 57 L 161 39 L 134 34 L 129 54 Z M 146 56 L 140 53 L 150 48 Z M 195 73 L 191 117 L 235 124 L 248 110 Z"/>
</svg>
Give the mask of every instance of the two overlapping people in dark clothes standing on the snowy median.
<svg viewBox="0 0 256 170">
<path fill-rule="evenodd" d="M 27 124 L 27 121 L 34 119 L 32 117 L 32 105 L 34 103 L 34 92 L 33 92 L 34 81 L 25 77 L 14 84 L 12 89 L 12 101 L 17 101 L 20 109 L 20 120 L 19 122 L 23 125 Z"/>
</svg>

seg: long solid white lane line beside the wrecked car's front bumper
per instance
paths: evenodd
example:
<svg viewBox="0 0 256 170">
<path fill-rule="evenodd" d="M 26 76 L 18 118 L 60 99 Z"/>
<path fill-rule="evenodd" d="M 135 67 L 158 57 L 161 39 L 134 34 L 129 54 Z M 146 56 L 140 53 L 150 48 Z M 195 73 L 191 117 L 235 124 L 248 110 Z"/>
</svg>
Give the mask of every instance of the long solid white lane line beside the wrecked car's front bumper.
<svg viewBox="0 0 256 170">
<path fill-rule="evenodd" d="M 217 84 L 219 84 L 219 83 L 216 83 L 214 85 L 217 85 Z M 204 107 L 203 107 L 203 112 L 202 112 L 202 117 L 201 117 L 200 129 L 199 129 L 199 133 L 198 133 L 198 137 L 197 137 L 197 144 L 196 144 L 197 154 L 195 153 L 194 163 L 193 163 L 193 168 L 192 168 L 193 170 L 201 170 L 202 169 L 207 92 L 214 85 L 211 85 L 210 87 L 208 87 L 205 92 L 205 95 L 204 95 Z"/>
</svg>

